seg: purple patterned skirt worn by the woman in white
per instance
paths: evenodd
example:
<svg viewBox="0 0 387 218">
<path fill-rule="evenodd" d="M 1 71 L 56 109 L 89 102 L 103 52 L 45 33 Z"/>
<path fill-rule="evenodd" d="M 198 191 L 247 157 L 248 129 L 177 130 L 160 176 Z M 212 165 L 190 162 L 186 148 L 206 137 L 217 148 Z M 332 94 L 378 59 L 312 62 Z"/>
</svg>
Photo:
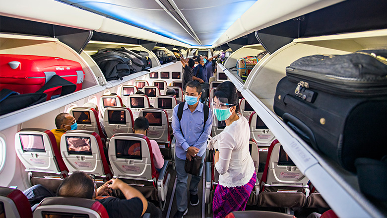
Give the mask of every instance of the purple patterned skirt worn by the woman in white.
<svg viewBox="0 0 387 218">
<path fill-rule="evenodd" d="M 213 218 L 224 218 L 230 212 L 244 211 L 256 181 L 257 174 L 254 172 L 246 185 L 227 188 L 218 184 L 212 202 Z"/>
</svg>

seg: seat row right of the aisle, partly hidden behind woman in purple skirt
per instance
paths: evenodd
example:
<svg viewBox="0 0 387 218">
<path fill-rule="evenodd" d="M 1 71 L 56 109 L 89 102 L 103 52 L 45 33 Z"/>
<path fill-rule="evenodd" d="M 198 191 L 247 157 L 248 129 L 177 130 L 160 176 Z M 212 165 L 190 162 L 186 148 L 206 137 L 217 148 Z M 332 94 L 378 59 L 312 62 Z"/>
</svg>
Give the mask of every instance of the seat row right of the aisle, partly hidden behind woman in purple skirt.
<svg viewBox="0 0 387 218">
<path fill-rule="evenodd" d="M 278 140 L 274 140 L 265 154 L 258 144 L 250 141 L 257 182 L 248 201 L 249 205 L 258 207 L 276 208 L 329 208 L 320 193 L 310 183 L 309 179 L 301 173 L 297 166 L 287 155 Z M 260 157 L 264 157 L 264 164 Z M 206 162 L 205 203 L 210 204 L 219 173 L 214 164 Z"/>
</svg>

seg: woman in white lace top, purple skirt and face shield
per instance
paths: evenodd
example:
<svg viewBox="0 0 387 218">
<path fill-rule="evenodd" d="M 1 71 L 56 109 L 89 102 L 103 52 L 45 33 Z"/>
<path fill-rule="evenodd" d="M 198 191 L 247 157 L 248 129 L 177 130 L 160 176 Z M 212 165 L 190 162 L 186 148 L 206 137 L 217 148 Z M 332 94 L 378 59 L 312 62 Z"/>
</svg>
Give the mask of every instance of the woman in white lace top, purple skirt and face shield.
<svg viewBox="0 0 387 218">
<path fill-rule="evenodd" d="M 249 123 L 238 113 L 238 94 L 234 84 L 230 81 L 219 84 L 214 96 L 210 107 L 212 113 L 227 125 L 209 143 L 215 148 L 214 164 L 219 172 L 212 204 L 213 217 L 223 218 L 232 211 L 245 210 L 257 175 L 249 151 Z"/>
</svg>

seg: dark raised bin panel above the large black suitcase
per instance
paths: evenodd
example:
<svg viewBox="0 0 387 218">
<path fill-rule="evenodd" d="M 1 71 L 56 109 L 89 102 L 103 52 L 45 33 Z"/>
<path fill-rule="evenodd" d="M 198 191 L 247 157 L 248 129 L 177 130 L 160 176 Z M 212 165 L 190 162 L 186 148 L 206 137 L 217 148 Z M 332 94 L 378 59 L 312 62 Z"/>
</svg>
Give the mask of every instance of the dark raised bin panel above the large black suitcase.
<svg viewBox="0 0 387 218">
<path fill-rule="evenodd" d="M 383 0 L 342 1 L 256 32 L 259 43 L 274 53 L 295 38 L 360 32 L 387 28 Z"/>
</svg>

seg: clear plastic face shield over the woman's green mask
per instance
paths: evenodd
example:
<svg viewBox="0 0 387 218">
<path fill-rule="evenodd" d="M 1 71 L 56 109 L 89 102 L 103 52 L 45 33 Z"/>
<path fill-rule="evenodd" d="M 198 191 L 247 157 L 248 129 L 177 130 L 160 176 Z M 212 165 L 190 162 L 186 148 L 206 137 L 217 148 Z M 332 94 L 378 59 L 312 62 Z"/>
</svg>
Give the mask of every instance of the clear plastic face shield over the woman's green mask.
<svg viewBox="0 0 387 218">
<path fill-rule="evenodd" d="M 231 116 L 231 108 L 235 106 L 228 103 L 227 98 L 210 98 L 210 108 L 213 117 L 212 126 L 214 127 L 226 127 L 225 120 Z"/>
</svg>

